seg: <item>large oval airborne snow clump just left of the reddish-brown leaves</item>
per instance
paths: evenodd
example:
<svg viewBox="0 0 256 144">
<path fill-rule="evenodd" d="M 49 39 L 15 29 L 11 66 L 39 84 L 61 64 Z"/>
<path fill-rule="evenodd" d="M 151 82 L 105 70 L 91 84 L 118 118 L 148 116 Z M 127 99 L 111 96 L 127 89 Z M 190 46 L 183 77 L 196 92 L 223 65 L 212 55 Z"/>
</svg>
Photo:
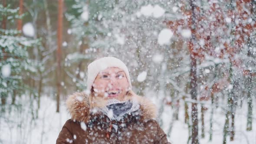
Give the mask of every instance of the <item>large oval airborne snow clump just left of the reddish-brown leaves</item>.
<svg viewBox="0 0 256 144">
<path fill-rule="evenodd" d="M 159 45 L 164 45 L 164 44 L 169 44 L 170 39 L 173 36 L 173 32 L 171 29 L 163 29 L 158 35 L 158 44 Z"/>
</svg>

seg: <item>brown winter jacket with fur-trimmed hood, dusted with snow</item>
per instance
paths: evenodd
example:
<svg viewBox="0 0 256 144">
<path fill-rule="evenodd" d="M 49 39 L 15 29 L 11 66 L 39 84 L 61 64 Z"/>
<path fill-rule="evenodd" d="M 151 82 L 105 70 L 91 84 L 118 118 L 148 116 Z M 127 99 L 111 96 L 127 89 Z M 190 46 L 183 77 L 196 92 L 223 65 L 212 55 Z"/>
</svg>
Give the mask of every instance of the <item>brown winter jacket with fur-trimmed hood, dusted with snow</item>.
<svg viewBox="0 0 256 144">
<path fill-rule="evenodd" d="M 64 124 L 56 144 L 171 144 L 158 122 L 152 119 L 156 115 L 154 104 L 133 92 L 128 93 L 128 99 L 138 101 L 140 109 L 121 121 L 110 121 L 96 111 L 106 105 L 102 98 L 92 98 L 84 92 L 70 95 L 66 105 L 72 119 Z M 117 131 L 112 124 L 118 125 Z"/>
</svg>

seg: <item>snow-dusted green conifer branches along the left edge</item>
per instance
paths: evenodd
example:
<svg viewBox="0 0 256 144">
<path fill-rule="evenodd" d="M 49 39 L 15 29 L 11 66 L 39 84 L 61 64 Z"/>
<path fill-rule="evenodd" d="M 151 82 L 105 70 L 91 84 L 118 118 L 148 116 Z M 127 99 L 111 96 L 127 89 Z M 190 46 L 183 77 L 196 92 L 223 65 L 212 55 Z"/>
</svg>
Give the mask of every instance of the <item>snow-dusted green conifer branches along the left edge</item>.
<svg viewBox="0 0 256 144">
<path fill-rule="evenodd" d="M 14 22 L 18 16 L 19 8 L 10 9 L 10 5 L 0 5 L 0 21 L 8 16 L 8 24 Z M 8 25 L 7 24 L 7 25 Z M 15 104 L 16 95 L 22 95 L 30 87 L 24 83 L 24 79 L 32 72 L 36 72 L 33 60 L 29 58 L 28 49 L 38 44 L 39 40 L 29 39 L 20 35 L 20 31 L 3 27 L 0 29 L 0 97 L 2 111 L 9 104 L 8 99 Z M 11 104 L 10 103 L 10 104 Z"/>
</svg>

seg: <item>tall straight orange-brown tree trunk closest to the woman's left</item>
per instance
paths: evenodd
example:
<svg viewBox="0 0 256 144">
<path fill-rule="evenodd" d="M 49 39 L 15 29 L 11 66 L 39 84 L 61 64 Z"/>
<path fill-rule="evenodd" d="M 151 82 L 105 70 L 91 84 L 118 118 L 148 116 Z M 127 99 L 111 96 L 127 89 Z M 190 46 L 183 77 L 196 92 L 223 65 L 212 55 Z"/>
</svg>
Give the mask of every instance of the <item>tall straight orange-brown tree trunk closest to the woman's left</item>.
<svg viewBox="0 0 256 144">
<path fill-rule="evenodd" d="M 59 103 L 60 103 L 60 80 L 61 80 L 61 48 L 62 48 L 62 18 L 63 18 L 63 0 L 59 0 L 58 3 L 58 48 L 56 52 L 56 57 L 57 57 L 57 72 L 56 72 L 56 78 L 57 78 L 57 109 L 56 112 L 59 112 Z"/>
</svg>

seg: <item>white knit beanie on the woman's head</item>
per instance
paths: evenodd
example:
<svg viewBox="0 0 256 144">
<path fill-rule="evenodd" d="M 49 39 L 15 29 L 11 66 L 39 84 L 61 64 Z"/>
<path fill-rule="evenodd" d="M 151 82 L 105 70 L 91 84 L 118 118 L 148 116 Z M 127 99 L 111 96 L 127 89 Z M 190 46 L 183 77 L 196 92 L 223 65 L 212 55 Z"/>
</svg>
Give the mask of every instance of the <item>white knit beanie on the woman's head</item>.
<svg viewBox="0 0 256 144">
<path fill-rule="evenodd" d="M 88 71 L 87 71 L 88 72 L 88 75 L 87 75 L 88 91 L 91 91 L 92 85 L 98 73 L 110 67 L 117 67 L 119 69 L 122 69 L 125 72 L 126 78 L 128 80 L 129 88 L 131 89 L 130 75 L 125 63 L 122 62 L 120 59 L 108 56 L 108 57 L 97 59 L 88 65 Z"/>
</svg>

